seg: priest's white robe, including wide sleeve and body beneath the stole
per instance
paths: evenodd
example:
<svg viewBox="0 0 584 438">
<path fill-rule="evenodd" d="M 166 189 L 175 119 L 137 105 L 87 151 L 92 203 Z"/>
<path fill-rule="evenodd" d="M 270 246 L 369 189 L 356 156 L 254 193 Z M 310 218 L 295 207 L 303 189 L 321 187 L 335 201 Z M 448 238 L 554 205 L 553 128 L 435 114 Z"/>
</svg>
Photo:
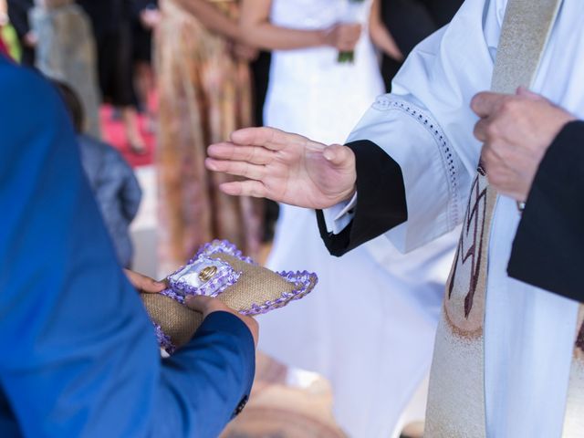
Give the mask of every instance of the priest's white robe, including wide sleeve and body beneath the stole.
<svg viewBox="0 0 584 438">
<path fill-rule="evenodd" d="M 470 101 L 490 89 L 505 10 L 506 0 L 467 0 L 449 26 L 414 49 L 392 93 L 375 101 L 349 137 L 375 142 L 401 166 L 408 220 L 386 234 L 401 251 L 425 245 L 463 220 L 481 151 Z M 584 118 L 583 19 L 584 2 L 562 2 L 532 86 L 579 118 Z M 329 231 L 338 233 L 347 224 L 350 215 L 339 215 L 343 207 L 325 212 Z M 584 436 L 581 415 L 568 418 L 562 429 L 579 303 L 507 276 L 519 219 L 515 201 L 499 197 L 485 303 L 486 433 Z M 453 384 L 457 372 L 473 372 L 456 360 L 434 364 L 452 373 Z M 581 393 L 571 396 L 583 402 Z M 443 409 L 452 410 L 453 418 L 457 410 L 464 415 L 464 406 Z"/>
</svg>

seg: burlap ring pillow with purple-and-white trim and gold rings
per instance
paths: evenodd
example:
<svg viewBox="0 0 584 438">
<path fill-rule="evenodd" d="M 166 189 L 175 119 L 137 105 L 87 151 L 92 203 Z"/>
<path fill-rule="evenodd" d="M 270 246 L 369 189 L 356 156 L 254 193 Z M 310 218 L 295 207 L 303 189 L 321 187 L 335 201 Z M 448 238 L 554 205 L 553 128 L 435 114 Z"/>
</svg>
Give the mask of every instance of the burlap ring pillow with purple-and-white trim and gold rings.
<svg viewBox="0 0 584 438">
<path fill-rule="evenodd" d="M 226 241 L 203 245 L 189 263 L 167 277 L 161 294 L 141 294 L 163 349 L 172 353 L 187 343 L 203 321 L 202 315 L 184 306 L 184 297 L 217 297 L 248 316 L 282 308 L 305 297 L 317 284 L 308 272 L 276 273 L 258 266 Z"/>
</svg>

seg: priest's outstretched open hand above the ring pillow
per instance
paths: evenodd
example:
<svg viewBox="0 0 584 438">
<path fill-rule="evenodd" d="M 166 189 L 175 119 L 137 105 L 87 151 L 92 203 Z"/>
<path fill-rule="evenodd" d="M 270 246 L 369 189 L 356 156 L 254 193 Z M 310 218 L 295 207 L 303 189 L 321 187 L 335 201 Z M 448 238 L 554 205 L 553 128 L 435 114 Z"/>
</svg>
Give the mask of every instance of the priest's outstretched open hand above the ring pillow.
<svg viewBox="0 0 584 438">
<path fill-rule="evenodd" d="M 347 146 L 326 146 L 274 128 L 246 128 L 231 141 L 209 146 L 207 169 L 243 177 L 223 183 L 224 193 L 255 196 L 322 209 L 355 193 L 355 155 Z"/>
</svg>

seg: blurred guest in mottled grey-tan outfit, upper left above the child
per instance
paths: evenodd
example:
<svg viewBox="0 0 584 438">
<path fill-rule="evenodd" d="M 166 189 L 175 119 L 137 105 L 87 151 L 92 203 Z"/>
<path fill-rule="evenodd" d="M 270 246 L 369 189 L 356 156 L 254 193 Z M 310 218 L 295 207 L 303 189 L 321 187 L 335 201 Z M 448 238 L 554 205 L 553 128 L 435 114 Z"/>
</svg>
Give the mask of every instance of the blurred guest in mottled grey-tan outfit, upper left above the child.
<svg viewBox="0 0 584 438">
<path fill-rule="evenodd" d="M 31 26 L 38 36 L 36 67 L 48 78 L 75 90 L 85 114 L 81 131 L 99 139 L 98 65 L 89 18 L 74 0 L 36 3 L 30 13 Z"/>
</svg>

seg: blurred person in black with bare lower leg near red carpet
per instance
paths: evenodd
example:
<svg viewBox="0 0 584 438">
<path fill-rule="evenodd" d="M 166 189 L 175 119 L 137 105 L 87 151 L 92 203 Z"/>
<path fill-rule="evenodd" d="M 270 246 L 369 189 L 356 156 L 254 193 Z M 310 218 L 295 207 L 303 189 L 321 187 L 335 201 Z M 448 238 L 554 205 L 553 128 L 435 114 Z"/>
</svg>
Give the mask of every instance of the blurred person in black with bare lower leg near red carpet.
<svg viewBox="0 0 584 438">
<path fill-rule="evenodd" d="M 132 78 L 130 0 L 78 0 L 78 4 L 93 25 L 102 99 L 120 109 L 130 151 L 144 154 Z"/>
</svg>

